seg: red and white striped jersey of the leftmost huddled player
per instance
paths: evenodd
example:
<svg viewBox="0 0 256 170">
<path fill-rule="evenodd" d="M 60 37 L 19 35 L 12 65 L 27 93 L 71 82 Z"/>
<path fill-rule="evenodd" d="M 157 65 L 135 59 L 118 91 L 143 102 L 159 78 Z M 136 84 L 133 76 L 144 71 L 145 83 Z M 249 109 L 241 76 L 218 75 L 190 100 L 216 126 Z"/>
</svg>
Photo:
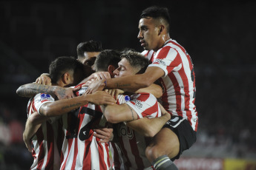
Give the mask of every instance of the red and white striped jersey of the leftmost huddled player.
<svg viewBox="0 0 256 170">
<path fill-rule="evenodd" d="M 50 95 L 39 93 L 34 98 L 30 98 L 27 104 L 27 117 L 34 112 L 39 112 L 42 104 L 53 102 L 54 98 Z M 36 113 L 37 114 L 37 113 Z M 59 121 L 51 119 L 52 123 L 45 121 L 32 137 L 32 156 L 34 158 L 30 169 L 59 169 L 60 150 L 62 145 L 62 126 Z"/>
</svg>

